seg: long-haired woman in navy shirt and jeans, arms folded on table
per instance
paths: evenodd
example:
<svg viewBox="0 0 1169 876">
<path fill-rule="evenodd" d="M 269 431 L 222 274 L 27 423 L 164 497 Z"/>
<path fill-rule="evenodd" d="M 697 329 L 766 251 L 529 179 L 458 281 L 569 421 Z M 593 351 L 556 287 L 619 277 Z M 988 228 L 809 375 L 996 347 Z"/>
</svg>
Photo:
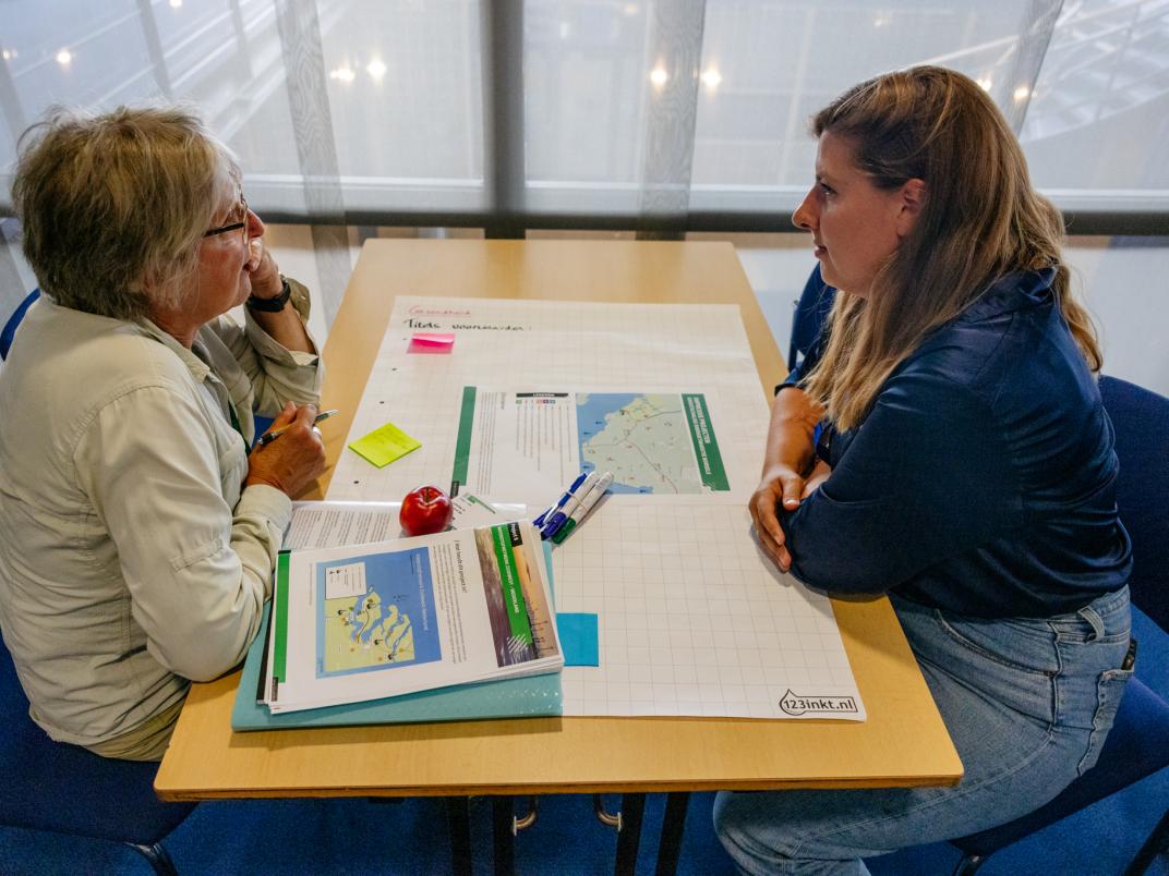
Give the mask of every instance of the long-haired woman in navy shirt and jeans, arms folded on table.
<svg viewBox="0 0 1169 876">
<path fill-rule="evenodd" d="M 934 67 L 857 85 L 812 128 L 794 221 L 839 293 L 779 390 L 750 509 L 781 569 L 888 593 L 966 774 L 720 794 L 719 836 L 759 874 L 866 872 L 1037 808 L 1095 763 L 1132 674 L 1100 352 L 1018 142 Z"/>
</svg>

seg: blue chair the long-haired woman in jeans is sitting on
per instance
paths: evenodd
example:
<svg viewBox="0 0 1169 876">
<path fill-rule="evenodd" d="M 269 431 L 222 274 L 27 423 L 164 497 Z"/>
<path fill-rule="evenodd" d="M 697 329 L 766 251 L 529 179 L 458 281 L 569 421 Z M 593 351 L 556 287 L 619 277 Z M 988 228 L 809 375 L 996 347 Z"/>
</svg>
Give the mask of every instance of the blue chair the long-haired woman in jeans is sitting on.
<svg viewBox="0 0 1169 876">
<path fill-rule="evenodd" d="M 1169 398 L 1115 377 L 1100 378 L 1105 409 L 1116 430 L 1120 477 L 1116 506 L 1133 538 L 1133 605 L 1169 632 Z M 1137 672 L 1140 672 L 1137 653 Z M 969 876 L 1016 840 L 1169 766 L 1169 703 L 1133 677 L 1100 759 L 1046 806 L 1005 825 L 950 842 L 963 857 L 955 876 Z M 1169 850 L 1169 808 L 1126 874 L 1144 872 Z"/>
</svg>

